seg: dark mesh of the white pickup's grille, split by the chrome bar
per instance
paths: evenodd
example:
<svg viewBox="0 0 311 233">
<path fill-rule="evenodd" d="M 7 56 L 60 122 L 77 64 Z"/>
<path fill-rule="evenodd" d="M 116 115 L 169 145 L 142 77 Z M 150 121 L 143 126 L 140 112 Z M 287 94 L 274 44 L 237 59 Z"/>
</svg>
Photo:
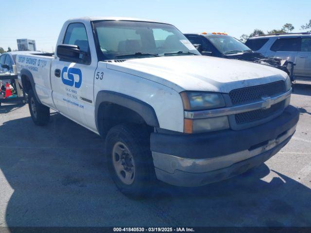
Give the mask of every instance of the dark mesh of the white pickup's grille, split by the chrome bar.
<svg viewBox="0 0 311 233">
<path fill-rule="evenodd" d="M 229 92 L 232 105 L 239 105 L 263 100 L 263 98 L 281 95 L 286 92 L 285 83 L 278 81 L 258 86 L 244 87 Z M 267 109 L 257 109 L 234 115 L 237 125 L 256 122 L 269 116 L 277 115 L 284 109 L 285 100 L 271 105 Z"/>
</svg>

